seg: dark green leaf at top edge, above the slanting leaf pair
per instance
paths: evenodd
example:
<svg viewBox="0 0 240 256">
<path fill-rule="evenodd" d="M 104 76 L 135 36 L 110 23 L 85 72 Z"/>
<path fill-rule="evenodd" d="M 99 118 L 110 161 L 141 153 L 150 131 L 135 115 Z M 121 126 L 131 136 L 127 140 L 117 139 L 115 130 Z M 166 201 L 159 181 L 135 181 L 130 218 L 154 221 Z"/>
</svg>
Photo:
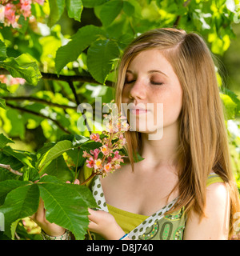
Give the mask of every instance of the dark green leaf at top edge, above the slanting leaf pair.
<svg viewBox="0 0 240 256">
<path fill-rule="evenodd" d="M 113 0 L 106 2 L 102 6 L 102 10 L 100 11 L 100 19 L 103 26 L 110 26 L 110 24 L 117 18 L 118 14 L 120 14 L 122 10 L 122 1 Z"/>
</svg>

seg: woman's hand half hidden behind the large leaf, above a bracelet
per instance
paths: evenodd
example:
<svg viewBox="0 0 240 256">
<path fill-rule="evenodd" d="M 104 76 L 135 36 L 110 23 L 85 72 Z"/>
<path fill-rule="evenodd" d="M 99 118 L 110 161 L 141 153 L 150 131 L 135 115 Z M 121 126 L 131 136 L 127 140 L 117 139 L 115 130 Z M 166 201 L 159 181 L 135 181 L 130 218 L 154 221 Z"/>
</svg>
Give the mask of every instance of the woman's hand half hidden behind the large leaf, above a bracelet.
<svg viewBox="0 0 240 256">
<path fill-rule="evenodd" d="M 36 222 L 38 226 L 40 226 L 42 230 L 50 236 L 57 237 L 66 232 L 62 226 L 58 226 L 46 220 L 46 210 L 44 209 L 44 202 L 42 201 L 42 198 L 40 198 L 37 212 L 30 216 L 30 218 L 33 219 L 34 222 Z"/>
</svg>

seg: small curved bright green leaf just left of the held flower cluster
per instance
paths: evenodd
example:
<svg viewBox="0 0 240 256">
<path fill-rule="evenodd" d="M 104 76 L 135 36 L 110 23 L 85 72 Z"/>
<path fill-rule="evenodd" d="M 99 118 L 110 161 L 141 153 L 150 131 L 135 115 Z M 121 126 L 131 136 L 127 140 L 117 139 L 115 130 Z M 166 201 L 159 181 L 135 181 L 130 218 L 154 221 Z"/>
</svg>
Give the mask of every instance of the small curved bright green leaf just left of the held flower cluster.
<svg viewBox="0 0 240 256">
<path fill-rule="evenodd" d="M 46 153 L 46 157 L 42 158 L 42 162 L 40 162 L 40 165 L 38 167 L 42 168 L 43 166 L 46 165 L 47 162 L 50 162 L 55 158 L 58 158 L 58 156 L 60 156 L 67 150 L 71 150 L 72 148 L 73 148 L 73 144 L 70 141 L 65 140 L 62 142 L 58 142 Z"/>
</svg>

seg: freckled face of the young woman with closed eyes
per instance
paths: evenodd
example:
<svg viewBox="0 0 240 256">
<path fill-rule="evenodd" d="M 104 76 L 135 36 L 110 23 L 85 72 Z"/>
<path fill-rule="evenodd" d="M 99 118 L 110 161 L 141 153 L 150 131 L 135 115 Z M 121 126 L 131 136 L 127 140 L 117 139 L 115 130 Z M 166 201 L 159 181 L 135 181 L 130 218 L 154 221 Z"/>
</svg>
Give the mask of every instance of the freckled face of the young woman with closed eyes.
<svg viewBox="0 0 240 256">
<path fill-rule="evenodd" d="M 182 86 L 160 50 L 144 50 L 130 62 L 122 103 L 127 103 L 130 126 L 134 124 L 137 131 L 152 133 L 177 124 Z"/>
</svg>

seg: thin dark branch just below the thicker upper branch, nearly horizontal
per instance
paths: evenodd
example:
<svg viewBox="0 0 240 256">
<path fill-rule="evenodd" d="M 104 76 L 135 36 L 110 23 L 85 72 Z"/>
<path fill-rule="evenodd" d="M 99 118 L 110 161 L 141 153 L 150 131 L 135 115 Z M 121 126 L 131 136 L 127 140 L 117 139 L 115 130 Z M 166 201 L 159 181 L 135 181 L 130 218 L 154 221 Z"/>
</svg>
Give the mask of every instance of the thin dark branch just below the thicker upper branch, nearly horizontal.
<svg viewBox="0 0 240 256">
<path fill-rule="evenodd" d="M 18 102 L 18 101 L 19 102 L 22 102 L 22 101 L 39 102 L 39 103 L 46 104 L 48 106 L 56 106 L 63 110 L 66 110 L 66 109 L 76 110 L 77 109 L 77 106 L 60 105 L 58 103 L 48 102 L 48 101 L 46 101 L 46 99 L 43 99 L 43 98 L 35 98 L 35 97 L 31 97 L 31 96 L 18 96 L 18 97 L 5 96 L 2 98 L 5 99 L 6 101 L 14 101 L 14 102 Z"/>
</svg>

